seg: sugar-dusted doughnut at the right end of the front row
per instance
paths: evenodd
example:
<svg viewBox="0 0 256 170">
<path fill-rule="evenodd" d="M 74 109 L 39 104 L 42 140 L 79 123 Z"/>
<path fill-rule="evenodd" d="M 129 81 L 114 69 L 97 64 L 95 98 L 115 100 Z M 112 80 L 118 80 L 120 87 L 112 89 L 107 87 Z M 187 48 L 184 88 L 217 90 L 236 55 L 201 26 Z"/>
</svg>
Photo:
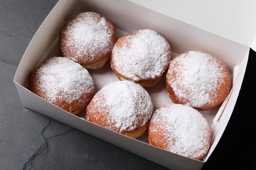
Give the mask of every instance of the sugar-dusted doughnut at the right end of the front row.
<svg viewBox="0 0 256 170">
<path fill-rule="evenodd" d="M 203 160 L 211 146 L 207 120 L 192 107 L 171 104 L 157 109 L 148 126 L 148 143 L 188 158 Z"/>
</svg>

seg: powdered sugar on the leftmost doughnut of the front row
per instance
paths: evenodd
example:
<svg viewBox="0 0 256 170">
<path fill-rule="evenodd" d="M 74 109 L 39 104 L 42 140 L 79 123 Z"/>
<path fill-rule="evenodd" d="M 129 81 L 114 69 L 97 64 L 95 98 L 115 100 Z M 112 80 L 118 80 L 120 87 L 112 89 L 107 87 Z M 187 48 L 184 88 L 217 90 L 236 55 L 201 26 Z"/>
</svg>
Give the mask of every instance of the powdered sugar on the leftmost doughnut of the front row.
<svg viewBox="0 0 256 170">
<path fill-rule="evenodd" d="M 69 58 L 49 58 L 37 69 L 36 74 L 40 82 L 38 88 L 50 102 L 60 99 L 72 103 L 94 88 L 93 78 L 87 69 Z"/>
</svg>

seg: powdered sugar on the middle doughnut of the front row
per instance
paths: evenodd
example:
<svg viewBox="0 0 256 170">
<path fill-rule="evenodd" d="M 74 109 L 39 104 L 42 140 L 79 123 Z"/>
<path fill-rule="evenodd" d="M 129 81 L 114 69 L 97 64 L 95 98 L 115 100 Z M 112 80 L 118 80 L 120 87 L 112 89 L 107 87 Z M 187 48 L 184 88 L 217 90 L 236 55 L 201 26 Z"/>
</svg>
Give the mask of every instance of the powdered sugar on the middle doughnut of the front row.
<svg viewBox="0 0 256 170">
<path fill-rule="evenodd" d="M 119 133 L 144 126 L 153 111 L 148 92 L 139 84 L 127 80 L 104 86 L 93 101 L 101 114 L 107 114 L 106 127 Z"/>
</svg>

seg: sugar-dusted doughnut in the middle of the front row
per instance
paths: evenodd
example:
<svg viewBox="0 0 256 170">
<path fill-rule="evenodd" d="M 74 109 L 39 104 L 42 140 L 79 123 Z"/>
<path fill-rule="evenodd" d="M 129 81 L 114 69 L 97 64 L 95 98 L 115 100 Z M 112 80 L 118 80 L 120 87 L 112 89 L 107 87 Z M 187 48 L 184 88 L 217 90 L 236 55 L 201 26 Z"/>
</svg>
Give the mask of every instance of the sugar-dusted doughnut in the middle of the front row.
<svg viewBox="0 0 256 170">
<path fill-rule="evenodd" d="M 136 139 L 148 128 L 153 109 L 150 95 L 140 84 L 117 80 L 95 94 L 85 120 Z"/>
</svg>

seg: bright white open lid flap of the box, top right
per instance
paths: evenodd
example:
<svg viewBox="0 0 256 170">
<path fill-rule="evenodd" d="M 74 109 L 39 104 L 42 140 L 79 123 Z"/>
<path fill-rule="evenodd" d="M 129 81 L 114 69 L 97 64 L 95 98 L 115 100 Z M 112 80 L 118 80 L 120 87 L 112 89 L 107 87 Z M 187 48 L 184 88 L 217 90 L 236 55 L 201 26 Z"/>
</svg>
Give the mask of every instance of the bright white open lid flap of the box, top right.
<svg viewBox="0 0 256 170">
<path fill-rule="evenodd" d="M 255 0 L 129 1 L 248 47 L 256 35 Z"/>
</svg>

